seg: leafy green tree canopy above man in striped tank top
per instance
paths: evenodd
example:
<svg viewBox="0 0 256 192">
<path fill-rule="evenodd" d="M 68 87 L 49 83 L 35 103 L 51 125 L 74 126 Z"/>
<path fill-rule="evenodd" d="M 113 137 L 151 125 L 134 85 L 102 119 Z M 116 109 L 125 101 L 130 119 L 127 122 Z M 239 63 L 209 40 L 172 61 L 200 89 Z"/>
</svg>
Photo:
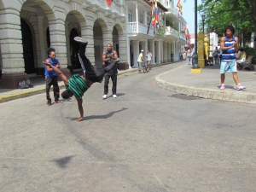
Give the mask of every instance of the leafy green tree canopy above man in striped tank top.
<svg viewBox="0 0 256 192">
<path fill-rule="evenodd" d="M 241 37 L 247 32 L 256 32 L 255 0 L 202 0 L 198 10 L 206 15 L 208 32 L 222 35 L 224 27 L 228 25 L 235 26 Z"/>
</svg>

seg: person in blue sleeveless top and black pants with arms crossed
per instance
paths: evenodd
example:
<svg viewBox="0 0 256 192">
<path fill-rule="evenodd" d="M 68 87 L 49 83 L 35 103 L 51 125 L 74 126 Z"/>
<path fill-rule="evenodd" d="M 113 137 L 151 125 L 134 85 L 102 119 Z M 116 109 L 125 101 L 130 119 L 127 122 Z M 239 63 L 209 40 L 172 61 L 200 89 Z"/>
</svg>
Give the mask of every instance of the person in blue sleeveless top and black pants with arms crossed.
<svg viewBox="0 0 256 192">
<path fill-rule="evenodd" d="M 50 63 L 52 66 L 55 66 L 57 68 L 61 68 L 60 62 L 56 59 L 56 53 L 55 49 L 49 48 L 47 49 L 47 55 L 49 56 L 48 59 L 45 60 L 45 62 Z M 55 96 L 55 103 L 61 103 L 59 100 L 60 98 L 60 89 L 59 89 L 59 84 L 58 84 L 58 76 L 55 73 L 55 71 L 49 67 L 49 66 L 44 66 L 44 76 L 45 76 L 45 92 L 46 92 L 46 99 L 47 103 L 46 106 L 51 105 L 51 98 L 49 96 L 49 89 L 51 85 L 53 85 L 53 90 L 54 90 L 54 96 Z"/>
</svg>

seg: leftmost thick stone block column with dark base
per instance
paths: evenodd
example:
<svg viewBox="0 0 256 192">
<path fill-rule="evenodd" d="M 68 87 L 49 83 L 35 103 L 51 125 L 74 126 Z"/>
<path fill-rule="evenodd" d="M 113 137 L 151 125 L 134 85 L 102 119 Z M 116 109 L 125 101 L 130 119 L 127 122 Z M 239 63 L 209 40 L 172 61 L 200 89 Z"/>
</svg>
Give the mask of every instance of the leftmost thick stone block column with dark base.
<svg viewBox="0 0 256 192">
<path fill-rule="evenodd" d="M 4 9 L 0 15 L 0 44 L 3 63 L 2 89 L 17 89 L 21 79 L 28 79 L 28 75 L 24 73 L 20 9 L 21 4 L 18 2 L 16 7 Z"/>
</svg>

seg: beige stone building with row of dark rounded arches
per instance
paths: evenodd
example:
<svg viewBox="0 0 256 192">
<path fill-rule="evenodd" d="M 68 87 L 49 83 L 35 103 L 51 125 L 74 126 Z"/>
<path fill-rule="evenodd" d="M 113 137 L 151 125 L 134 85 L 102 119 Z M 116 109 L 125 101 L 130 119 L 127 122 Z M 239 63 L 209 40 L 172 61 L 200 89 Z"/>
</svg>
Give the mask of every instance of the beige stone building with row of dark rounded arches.
<svg viewBox="0 0 256 192">
<path fill-rule="evenodd" d="M 127 62 L 122 0 L 110 7 L 105 0 L 2 0 L 0 9 L 2 88 L 17 88 L 28 74 L 44 74 L 49 46 L 56 49 L 64 73 L 79 68 L 75 36 L 88 39 L 86 55 L 96 67 L 102 67 L 102 49 L 108 43 Z"/>
</svg>

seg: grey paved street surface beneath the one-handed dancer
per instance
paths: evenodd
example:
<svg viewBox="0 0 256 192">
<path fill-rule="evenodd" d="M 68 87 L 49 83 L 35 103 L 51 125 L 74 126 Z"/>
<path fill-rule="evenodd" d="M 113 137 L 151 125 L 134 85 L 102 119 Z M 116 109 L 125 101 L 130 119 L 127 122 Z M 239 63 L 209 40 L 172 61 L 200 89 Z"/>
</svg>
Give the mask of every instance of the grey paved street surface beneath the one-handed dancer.
<svg viewBox="0 0 256 192">
<path fill-rule="evenodd" d="M 180 66 L 120 75 L 116 99 L 93 84 L 82 122 L 74 98 L 1 103 L 0 191 L 256 191 L 255 104 L 155 85 Z"/>
</svg>

